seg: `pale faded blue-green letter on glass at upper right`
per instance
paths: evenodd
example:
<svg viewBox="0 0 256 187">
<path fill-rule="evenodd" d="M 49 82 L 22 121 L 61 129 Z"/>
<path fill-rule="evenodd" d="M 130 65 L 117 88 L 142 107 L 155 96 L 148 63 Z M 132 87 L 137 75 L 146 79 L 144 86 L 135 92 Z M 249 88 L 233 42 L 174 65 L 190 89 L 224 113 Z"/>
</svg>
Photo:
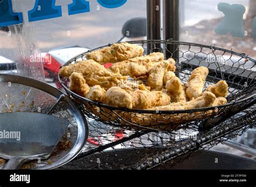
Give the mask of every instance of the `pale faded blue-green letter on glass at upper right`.
<svg viewBox="0 0 256 187">
<path fill-rule="evenodd" d="M 224 18 L 219 25 L 215 27 L 215 33 L 225 35 L 228 32 L 233 37 L 244 38 L 244 21 L 242 16 L 245 13 L 245 7 L 239 4 L 219 3 L 218 10 L 224 13 Z"/>
</svg>

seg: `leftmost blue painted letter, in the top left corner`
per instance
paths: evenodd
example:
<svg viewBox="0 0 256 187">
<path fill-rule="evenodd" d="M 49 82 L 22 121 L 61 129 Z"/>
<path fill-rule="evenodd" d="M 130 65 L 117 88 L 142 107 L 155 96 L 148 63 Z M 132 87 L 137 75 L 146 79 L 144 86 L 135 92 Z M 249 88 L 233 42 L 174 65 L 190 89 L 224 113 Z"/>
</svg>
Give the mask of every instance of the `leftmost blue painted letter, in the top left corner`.
<svg viewBox="0 0 256 187">
<path fill-rule="evenodd" d="M 22 13 L 15 13 L 12 10 L 11 0 L 0 2 L 0 27 L 23 23 Z"/>
</svg>

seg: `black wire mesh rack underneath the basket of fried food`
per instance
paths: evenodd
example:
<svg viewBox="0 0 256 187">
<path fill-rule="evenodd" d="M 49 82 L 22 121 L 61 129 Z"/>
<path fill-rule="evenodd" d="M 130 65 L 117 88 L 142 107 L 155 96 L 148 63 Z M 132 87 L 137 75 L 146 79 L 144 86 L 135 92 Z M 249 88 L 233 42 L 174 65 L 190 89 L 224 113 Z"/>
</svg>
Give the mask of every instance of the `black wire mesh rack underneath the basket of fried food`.
<svg viewBox="0 0 256 187">
<path fill-rule="evenodd" d="M 111 126 L 104 127 L 105 131 L 109 130 L 108 133 L 101 133 L 102 130 L 97 127 L 100 124 L 88 118 L 91 130 L 95 130 L 89 132 L 91 138 L 83 153 L 60 169 L 170 169 L 205 149 L 255 127 L 256 116 L 252 112 L 255 107 L 256 105 L 235 114 L 205 132 L 153 133 L 120 128 L 115 130 L 126 134 L 123 138 L 114 133 Z M 168 163 L 167 168 L 165 163 Z"/>
</svg>

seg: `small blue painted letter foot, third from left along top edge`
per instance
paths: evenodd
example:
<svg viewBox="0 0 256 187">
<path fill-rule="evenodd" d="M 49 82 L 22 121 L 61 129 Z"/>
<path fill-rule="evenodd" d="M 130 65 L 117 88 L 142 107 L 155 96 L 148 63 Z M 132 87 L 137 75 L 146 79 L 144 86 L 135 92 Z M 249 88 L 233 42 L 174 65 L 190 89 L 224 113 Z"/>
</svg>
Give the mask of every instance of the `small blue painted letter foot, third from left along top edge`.
<svg viewBox="0 0 256 187">
<path fill-rule="evenodd" d="M 76 15 L 77 13 L 90 12 L 90 3 L 85 0 L 73 0 L 69 4 L 69 15 Z"/>
</svg>

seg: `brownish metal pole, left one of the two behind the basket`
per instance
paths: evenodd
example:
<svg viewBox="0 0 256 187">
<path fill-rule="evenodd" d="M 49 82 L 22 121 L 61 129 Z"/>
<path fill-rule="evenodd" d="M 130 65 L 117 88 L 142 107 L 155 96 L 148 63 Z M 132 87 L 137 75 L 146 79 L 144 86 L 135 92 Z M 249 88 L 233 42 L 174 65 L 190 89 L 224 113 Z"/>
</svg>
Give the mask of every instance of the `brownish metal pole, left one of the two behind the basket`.
<svg viewBox="0 0 256 187">
<path fill-rule="evenodd" d="M 147 40 L 161 39 L 160 0 L 147 0 Z M 160 44 L 156 45 L 160 48 Z M 147 53 L 156 52 L 152 44 L 147 44 Z"/>
</svg>

